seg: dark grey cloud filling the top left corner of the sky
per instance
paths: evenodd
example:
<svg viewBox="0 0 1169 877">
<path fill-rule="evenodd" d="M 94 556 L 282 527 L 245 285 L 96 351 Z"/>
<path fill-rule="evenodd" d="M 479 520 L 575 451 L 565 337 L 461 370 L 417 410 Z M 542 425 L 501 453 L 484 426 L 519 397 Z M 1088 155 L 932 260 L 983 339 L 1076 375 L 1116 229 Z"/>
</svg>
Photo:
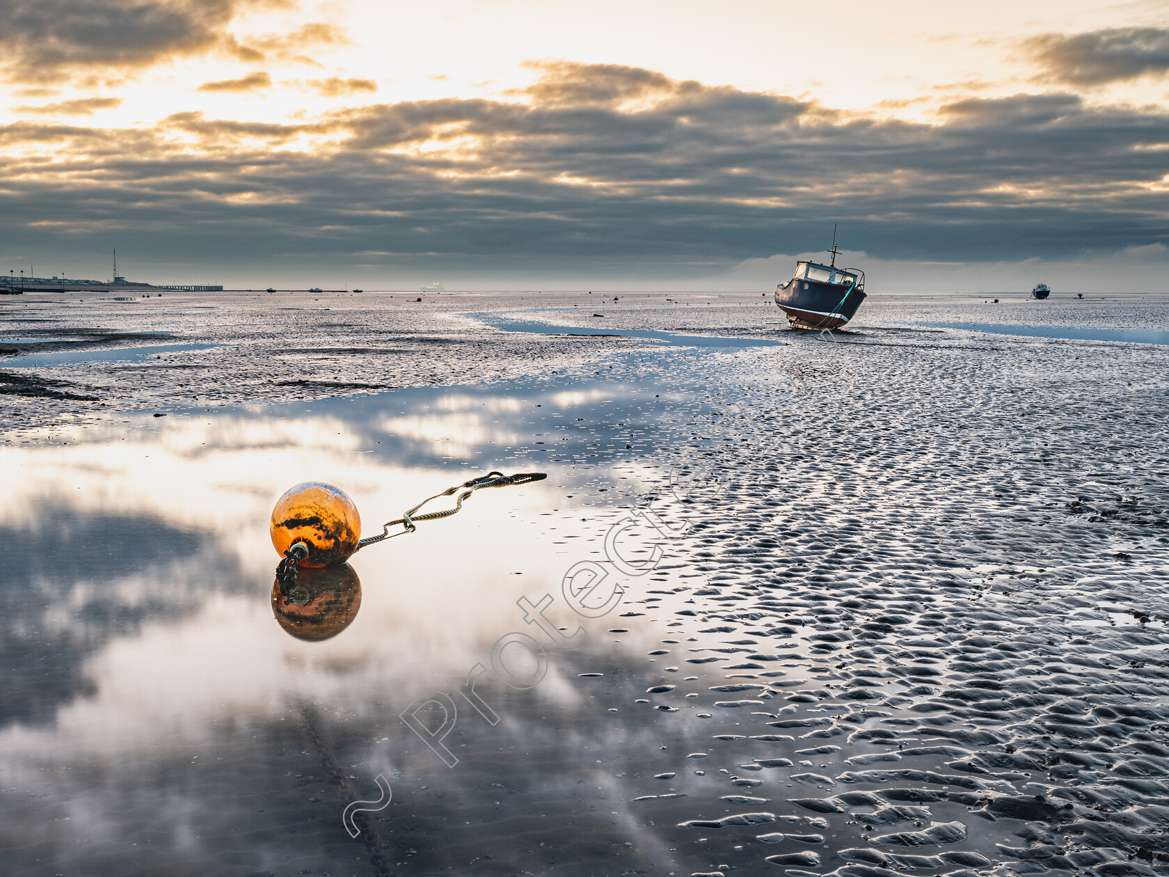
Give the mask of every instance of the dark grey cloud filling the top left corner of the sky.
<svg viewBox="0 0 1169 877">
<path fill-rule="evenodd" d="M 272 0 L 0 0 L 0 49 L 14 81 L 82 68 L 131 69 L 230 47 L 240 12 Z"/>
</svg>

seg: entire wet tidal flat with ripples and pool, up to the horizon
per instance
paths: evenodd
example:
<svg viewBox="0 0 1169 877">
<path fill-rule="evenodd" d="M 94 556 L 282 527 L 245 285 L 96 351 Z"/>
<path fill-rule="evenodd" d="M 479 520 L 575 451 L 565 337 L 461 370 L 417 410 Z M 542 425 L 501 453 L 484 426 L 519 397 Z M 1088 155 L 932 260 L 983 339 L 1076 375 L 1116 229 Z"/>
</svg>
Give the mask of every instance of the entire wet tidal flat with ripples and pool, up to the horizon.
<svg viewBox="0 0 1169 877">
<path fill-rule="evenodd" d="M 15 872 L 1169 872 L 1169 347 L 919 325 L 1169 306 L 874 297 L 828 338 L 746 295 L 362 295 L 5 303 L 62 350 L 222 345 L 0 364 L 96 398 L 0 396 Z M 459 316 L 531 308 L 786 345 Z M 272 621 L 284 486 L 396 513 L 484 468 L 552 477 L 360 552 L 334 638 Z M 662 559 L 603 617 L 554 608 L 587 634 L 545 642 L 537 688 L 489 671 L 500 720 L 461 710 L 448 768 L 399 712 L 490 664 L 635 503 L 690 530 L 630 531 Z"/>
</svg>

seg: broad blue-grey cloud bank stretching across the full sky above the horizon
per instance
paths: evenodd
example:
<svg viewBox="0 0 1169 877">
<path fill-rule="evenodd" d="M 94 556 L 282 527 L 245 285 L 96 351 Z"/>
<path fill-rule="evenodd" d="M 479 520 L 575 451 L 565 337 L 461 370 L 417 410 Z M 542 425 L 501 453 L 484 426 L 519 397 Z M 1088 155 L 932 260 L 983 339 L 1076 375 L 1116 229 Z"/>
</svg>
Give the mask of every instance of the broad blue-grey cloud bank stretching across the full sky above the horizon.
<svg viewBox="0 0 1169 877">
<path fill-rule="evenodd" d="M 0 156 L 0 235 L 50 248 L 41 229 L 54 229 L 97 251 L 126 228 L 192 264 L 367 251 L 444 270 L 689 276 L 822 249 L 833 222 L 844 246 L 885 260 L 1169 242 L 1163 112 L 1021 94 L 953 101 L 925 124 L 636 68 L 539 69 L 512 99 L 303 124 L 179 112 L 143 130 L 11 125 L 0 140 L 21 149 Z"/>
</svg>

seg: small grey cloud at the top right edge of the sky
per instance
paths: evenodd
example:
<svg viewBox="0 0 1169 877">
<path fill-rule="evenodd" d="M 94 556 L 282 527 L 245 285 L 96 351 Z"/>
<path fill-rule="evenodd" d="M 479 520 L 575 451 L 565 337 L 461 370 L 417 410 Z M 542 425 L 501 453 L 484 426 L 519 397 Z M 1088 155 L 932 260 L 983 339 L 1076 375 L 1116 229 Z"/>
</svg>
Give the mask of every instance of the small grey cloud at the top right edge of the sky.
<svg viewBox="0 0 1169 877">
<path fill-rule="evenodd" d="M 1169 72 L 1169 29 L 1125 27 L 1086 34 L 1043 34 L 1023 41 L 1043 80 L 1070 85 L 1104 85 L 1146 74 Z"/>
</svg>

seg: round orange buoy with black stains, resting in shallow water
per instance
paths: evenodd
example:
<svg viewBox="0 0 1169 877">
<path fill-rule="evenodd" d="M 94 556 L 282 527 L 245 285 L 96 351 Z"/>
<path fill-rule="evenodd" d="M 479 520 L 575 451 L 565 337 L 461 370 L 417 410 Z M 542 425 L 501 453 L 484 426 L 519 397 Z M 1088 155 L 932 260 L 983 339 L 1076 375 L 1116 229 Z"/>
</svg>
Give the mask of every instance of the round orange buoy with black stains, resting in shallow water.
<svg viewBox="0 0 1169 877">
<path fill-rule="evenodd" d="M 310 481 L 297 484 L 276 500 L 271 534 L 279 554 L 295 543 L 304 543 L 309 553 L 300 566 L 343 564 L 358 550 L 361 516 L 344 491 Z"/>
</svg>

